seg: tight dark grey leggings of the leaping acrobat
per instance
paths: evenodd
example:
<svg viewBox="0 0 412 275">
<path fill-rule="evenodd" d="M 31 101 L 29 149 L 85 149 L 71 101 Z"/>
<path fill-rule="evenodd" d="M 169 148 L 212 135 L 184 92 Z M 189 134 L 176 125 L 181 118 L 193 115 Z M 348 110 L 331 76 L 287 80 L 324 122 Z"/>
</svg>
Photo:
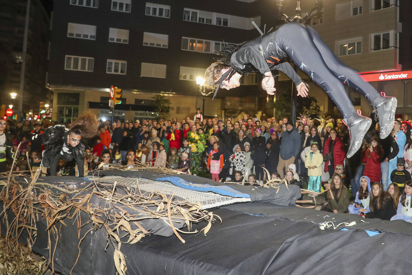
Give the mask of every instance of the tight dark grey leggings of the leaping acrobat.
<svg viewBox="0 0 412 275">
<path fill-rule="evenodd" d="M 313 28 L 288 23 L 279 28 L 275 42 L 302 71 L 325 90 L 344 118 L 353 115 L 355 108 L 342 82 L 363 94 L 371 103 L 379 96 L 376 89 L 365 82 L 356 70 L 337 58 Z"/>
</svg>

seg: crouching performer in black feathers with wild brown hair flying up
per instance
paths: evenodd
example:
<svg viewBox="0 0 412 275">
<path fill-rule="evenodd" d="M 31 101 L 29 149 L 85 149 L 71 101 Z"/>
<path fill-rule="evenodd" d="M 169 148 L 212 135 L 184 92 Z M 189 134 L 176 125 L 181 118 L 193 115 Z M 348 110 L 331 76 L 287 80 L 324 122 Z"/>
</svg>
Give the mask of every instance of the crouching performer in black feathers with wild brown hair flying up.
<svg viewBox="0 0 412 275">
<path fill-rule="evenodd" d="M 73 120 L 70 129 L 63 125 L 47 128 L 43 133 L 44 151 L 42 166 L 50 167 L 50 176 L 56 176 L 59 159 L 77 162 L 79 176 L 84 176 L 84 139 L 90 139 L 97 134 L 98 120 L 90 110 Z"/>
</svg>

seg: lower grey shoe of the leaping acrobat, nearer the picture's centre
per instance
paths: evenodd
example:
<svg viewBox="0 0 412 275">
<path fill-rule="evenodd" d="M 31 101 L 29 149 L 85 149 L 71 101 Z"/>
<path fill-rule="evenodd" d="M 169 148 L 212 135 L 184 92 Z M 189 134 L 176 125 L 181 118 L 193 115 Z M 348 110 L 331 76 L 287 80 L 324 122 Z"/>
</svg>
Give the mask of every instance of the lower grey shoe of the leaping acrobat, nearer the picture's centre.
<svg viewBox="0 0 412 275">
<path fill-rule="evenodd" d="M 363 137 L 368 132 L 372 120 L 361 115 L 361 110 L 354 113 L 349 118 L 344 118 L 343 122 L 349 129 L 350 145 L 346 157 L 353 156 L 361 148 Z"/>
</svg>

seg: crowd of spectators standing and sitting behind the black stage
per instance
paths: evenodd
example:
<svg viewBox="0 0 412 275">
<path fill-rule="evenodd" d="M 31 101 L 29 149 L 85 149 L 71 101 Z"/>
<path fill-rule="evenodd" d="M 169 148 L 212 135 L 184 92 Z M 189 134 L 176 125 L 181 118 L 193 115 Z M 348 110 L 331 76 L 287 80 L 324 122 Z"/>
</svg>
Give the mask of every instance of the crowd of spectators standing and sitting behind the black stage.
<svg viewBox="0 0 412 275">
<path fill-rule="evenodd" d="M 0 151 L 6 154 L 11 142 L 13 153 L 20 144 L 18 155 L 29 152 L 30 167 L 38 167 L 43 131 L 54 124 L 0 120 Z M 194 118 L 181 120 L 100 121 L 98 135 L 87 140 L 85 164 L 92 171 L 99 164 L 134 167 L 138 161 L 253 186 L 266 182 L 267 170 L 272 178 L 308 188 L 313 196 L 330 188 L 322 210 L 412 221 L 411 128 L 410 121 L 395 120 L 392 133 L 379 139 L 379 123 L 374 122 L 363 146 L 348 159 L 349 132 L 342 120 L 293 125 L 288 118 L 244 115 L 223 121 L 204 118 L 198 109 Z M 5 171 L 5 158 L 1 160 Z M 74 175 L 75 163 L 59 161 L 57 174 Z"/>
</svg>

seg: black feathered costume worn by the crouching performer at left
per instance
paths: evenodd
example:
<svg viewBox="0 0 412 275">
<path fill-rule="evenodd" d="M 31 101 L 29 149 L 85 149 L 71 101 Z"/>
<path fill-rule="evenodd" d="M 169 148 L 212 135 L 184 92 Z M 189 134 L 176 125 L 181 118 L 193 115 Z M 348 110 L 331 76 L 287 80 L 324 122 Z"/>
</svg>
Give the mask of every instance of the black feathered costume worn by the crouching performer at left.
<svg viewBox="0 0 412 275">
<path fill-rule="evenodd" d="M 83 177 L 84 175 L 83 162 L 85 144 L 83 140 L 81 140 L 77 146 L 70 146 L 67 140 L 68 133 L 69 130 L 66 127 L 56 125 L 47 128 L 42 135 L 44 144 L 42 165 L 44 167 L 50 167 L 50 176 L 56 176 L 59 159 L 69 162 L 73 160 L 73 158 L 77 162 L 79 177 Z"/>
</svg>

